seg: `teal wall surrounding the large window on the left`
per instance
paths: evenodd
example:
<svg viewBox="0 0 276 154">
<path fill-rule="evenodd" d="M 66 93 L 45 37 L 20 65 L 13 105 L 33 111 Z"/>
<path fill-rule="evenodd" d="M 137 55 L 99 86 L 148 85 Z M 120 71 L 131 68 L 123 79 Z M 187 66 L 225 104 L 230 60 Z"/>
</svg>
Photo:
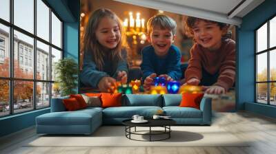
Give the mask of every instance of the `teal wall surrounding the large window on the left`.
<svg viewBox="0 0 276 154">
<path fill-rule="evenodd" d="M 79 0 L 46 0 L 63 21 L 63 56 L 79 62 Z M 76 87 L 77 90 L 77 87 Z M 50 108 L 0 118 L 0 137 L 35 124 L 38 115 Z"/>
</svg>

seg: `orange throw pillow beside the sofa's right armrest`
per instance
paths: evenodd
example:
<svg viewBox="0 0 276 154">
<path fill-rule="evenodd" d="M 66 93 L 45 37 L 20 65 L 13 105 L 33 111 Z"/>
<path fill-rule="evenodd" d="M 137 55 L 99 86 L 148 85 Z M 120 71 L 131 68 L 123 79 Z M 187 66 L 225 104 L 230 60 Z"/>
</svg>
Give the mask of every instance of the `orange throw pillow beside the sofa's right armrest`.
<svg viewBox="0 0 276 154">
<path fill-rule="evenodd" d="M 200 102 L 203 98 L 204 94 L 191 94 L 184 93 L 182 94 L 182 100 L 179 104 L 179 107 L 193 107 L 196 109 L 200 109 Z"/>
</svg>

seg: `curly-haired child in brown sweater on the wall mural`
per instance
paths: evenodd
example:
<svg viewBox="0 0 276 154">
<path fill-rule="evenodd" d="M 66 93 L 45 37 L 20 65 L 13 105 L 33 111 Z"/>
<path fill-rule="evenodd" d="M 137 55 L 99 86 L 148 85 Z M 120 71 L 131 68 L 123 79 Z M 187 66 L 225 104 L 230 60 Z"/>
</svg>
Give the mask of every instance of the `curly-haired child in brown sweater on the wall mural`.
<svg viewBox="0 0 276 154">
<path fill-rule="evenodd" d="M 185 84 L 204 85 L 207 94 L 224 94 L 235 83 L 235 41 L 223 39 L 229 25 L 188 17 L 186 31 L 195 44 L 185 72 Z M 206 87 L 208 86 L 208 87 Z"/>
</svg>

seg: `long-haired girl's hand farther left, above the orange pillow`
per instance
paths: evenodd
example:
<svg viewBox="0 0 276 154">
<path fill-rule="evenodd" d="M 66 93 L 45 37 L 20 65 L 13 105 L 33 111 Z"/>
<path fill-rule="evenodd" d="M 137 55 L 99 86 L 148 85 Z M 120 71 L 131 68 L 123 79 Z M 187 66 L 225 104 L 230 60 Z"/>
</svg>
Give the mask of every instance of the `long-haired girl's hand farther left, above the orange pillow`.
<svg viewBox="0 0 276 154">
<path fill-rule="evenodd" d="M 98 87 L 101 92 L 109 92 L 116 85 L 116 80 L 114 78 L 105 76 L 99 80 Z"/>
</svg>

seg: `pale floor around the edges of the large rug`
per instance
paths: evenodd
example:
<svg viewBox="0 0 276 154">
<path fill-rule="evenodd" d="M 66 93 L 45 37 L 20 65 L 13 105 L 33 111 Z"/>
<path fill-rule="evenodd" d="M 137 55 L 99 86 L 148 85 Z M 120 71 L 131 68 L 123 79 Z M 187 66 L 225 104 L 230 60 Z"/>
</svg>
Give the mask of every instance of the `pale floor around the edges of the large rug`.
<svg viewBox="0 0 276 154">
<path fill-rule="evenodd" d="M 219 126 L 241 140 L 253 140 L 240 147 L 26 147 L 37 138 L 34 127 L 0 139 L 0 153 L 74 153 L 74 154 L 172 154 L 172 153 L 276 153 L 276 120 L 248 112 L 216 113 L 212 126 Z M 219 137 L 217 137 L 217 140 Z M 118 141 L 119 142 L 119 141 Z"/>
</svg>

